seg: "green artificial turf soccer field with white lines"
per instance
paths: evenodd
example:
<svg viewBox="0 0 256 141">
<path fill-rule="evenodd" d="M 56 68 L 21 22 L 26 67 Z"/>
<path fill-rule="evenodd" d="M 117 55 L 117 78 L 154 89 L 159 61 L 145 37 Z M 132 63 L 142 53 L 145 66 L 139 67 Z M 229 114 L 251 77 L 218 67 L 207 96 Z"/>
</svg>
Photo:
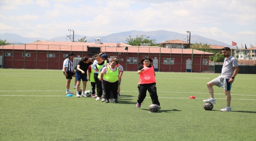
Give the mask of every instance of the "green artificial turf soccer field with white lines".
<svg viewBox="0 0 256 141">
<path fill-rule="evenodd" d="M 0 69 L 0 140 L 255 141 L 256 75 L 237 74 L 232 112 L 219 111 L 226 107 L 226 99 L 217 86 L 213 87 L 216 104 L 206 111 L 202 101 L 210 97 L 206 83 L 219 75 L 156 72 L 161 110 L 150 113 L 148 93 L 141 108 L 136 107 L 136 72 L 124 72 L 119 103 L 104 103 L 66 97 L 61 70 Z"/>
</svg>

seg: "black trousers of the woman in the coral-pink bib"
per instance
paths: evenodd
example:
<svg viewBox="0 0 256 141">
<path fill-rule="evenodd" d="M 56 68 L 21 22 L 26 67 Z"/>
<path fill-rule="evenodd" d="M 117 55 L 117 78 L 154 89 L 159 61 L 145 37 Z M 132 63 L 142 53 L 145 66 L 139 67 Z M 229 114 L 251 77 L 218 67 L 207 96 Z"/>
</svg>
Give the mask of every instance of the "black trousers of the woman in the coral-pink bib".
<svg viewBox="0 0 256 141">
<path fill-rule="evenodd" d="M 150 83 L 150 84 L 140 84 L 138 85 L 139 90 L 139 96 L 138 96 L 138 103 L 142 103 L 144 99 L 146 98 L 147 90 L 149 92 L 149 96 L 151 97 L 152 104 L 156 104 L 160 106 L 160 103 L 158 101 L 158 96 L 156 93 L 156 83 Z"/>
</svg>

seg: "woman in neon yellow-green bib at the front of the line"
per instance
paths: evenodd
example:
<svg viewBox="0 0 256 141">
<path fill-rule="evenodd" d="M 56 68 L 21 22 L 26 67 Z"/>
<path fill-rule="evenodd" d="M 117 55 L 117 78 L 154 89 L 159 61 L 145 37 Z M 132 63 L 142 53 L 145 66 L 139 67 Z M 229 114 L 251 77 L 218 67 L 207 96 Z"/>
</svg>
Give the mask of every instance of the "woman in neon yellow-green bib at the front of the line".
<svg viewBox="0 0 256 141">
<path fill-rule="evenodd" d="M 119 68 L 116 67 L 118 61 L 111 60 L 110 65 L 107 67 L 103 67 L 100 72 L 100 81 L 103 80 L 103 85 L 105 87 L 106 101 L 105 103 L 109 103 L 110 91 L 112 90 L 113 96 L 115 99 L 115 103 L 117 101 L 117 89 L 119 83 Z M 105 75 L 104 75 L 105 74 Z"/>
</svg>

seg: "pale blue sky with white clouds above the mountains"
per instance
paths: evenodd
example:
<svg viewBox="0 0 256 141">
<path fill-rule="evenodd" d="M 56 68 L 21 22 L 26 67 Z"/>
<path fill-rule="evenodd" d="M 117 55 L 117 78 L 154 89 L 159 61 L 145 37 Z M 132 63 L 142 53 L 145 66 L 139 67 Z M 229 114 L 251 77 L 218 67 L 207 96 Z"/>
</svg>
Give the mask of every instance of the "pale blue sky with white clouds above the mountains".
<svg viewBox="0 0 256 141">
<path fill-rule="evenodd" d="M 124 31 L 191 31 L 241 46 L 256 43 L 255 0 L 0 0 L 0 34 L 51 39 Z M 164 33 L 163 33 L 164 34 Z"/>
</svg>

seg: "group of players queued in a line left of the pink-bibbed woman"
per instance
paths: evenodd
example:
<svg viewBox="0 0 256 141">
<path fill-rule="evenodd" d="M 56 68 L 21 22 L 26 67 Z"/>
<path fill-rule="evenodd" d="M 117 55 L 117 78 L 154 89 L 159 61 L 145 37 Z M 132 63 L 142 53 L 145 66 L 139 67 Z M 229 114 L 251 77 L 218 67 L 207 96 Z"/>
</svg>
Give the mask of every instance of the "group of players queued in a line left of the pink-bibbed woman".
<svg viewBox="0 0 256 141">
<path fill-rule="evenodd" d="M 83 57 L 78 62 L 75 72 L 72 63 L 74 57 L 75 55 L 71 52 L 63 62 L 63 72 L 67 79 L 66 94 L 73 94 L 69 91 L 69 87 L 72 77 L 75 77 L 74 89 L 76 89 L 76 97 L 80 97 L 79 89 L 82 79 L 82 97 L 87 97 L 85 95 L 85 88 L 86 83 L 89 80 L 91 81 L 92 88 L 91 97 L 96 97 L 96 100 L 102 98 L 102 102 L 105 103 L 109 103 L 109 101 L 118 103 L 117 97 L 120 96 L 121 78 L 124 71 L 122 65 L 119 64 L 119 58 L 114 56 L 109 59 L 105 52 L 94 55 L 94 58 L 91 61 L 89 61 L 88 57 Z M 97 96 L 95 96 L 95 85 Z"/>
</svg>

